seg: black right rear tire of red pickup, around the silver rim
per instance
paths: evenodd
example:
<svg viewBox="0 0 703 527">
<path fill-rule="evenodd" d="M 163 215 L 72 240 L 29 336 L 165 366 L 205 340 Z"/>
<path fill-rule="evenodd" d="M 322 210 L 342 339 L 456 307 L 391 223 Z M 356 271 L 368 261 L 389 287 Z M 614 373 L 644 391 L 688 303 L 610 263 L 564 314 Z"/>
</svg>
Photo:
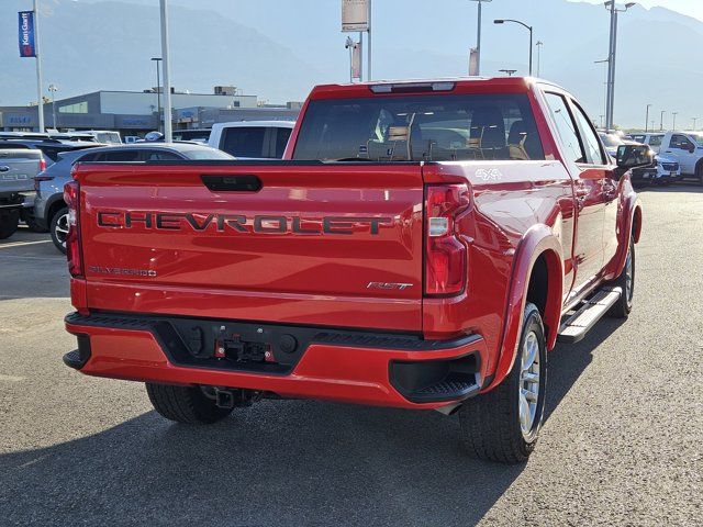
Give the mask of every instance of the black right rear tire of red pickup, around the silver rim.
<svg viewBox="0 0 703 527">
<path fill-rule="evenodd" d="M 538 389 L 534 417 L 527 433 L 521 425 L 521 393 L 529 381 L 523 380 L 522 358 L 526 340 L 538 346 Z M 502 463 L 526 461 L 537 444 L 545 408 L 547 346 L 539 310 L 525 305 L 520 347 L 510 374 L 492 391 L 467 401 L 459 410 L 460 434 L 471 457 Z M 534 388 L 534 384 L 533 384 Z M 529 403 L 527 403 L 529 404 Z M 532 408 L 529 410 L 532 413 Z"/>
</svg>

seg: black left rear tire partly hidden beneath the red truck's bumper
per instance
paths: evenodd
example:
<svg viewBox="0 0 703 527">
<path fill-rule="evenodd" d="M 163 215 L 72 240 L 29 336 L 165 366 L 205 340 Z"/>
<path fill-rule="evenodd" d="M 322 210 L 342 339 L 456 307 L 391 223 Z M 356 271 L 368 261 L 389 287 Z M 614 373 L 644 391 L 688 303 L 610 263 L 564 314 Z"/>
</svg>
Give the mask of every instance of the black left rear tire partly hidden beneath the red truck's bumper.
<svg viewBox="0 0 703 527">
<path fill-rule="evenodd" d="M 210 425 L 225 418 L 232 408 L 220 408 L 200 386 L 146 383 L 154 410 L 164 417 L 186 425 Z"/>
</svg>

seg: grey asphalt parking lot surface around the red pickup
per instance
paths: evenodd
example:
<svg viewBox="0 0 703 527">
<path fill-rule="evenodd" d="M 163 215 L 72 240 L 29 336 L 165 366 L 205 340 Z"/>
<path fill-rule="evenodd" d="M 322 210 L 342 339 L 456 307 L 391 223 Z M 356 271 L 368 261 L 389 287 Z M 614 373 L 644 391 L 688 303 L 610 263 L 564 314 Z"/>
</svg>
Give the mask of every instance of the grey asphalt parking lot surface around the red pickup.
<svg viewBox="0 0 703 527">
<path fill-rule="evenodd" d="M 640 193 L 635 310 L 549 356 L 525 466 L 462 455 L 438 413 L 265 401 L 191 428 L 142 384 L 62 363 L 48 235 L 0 244 L 1 525 L 701 525 L 703 187 Z"/>
</svg>

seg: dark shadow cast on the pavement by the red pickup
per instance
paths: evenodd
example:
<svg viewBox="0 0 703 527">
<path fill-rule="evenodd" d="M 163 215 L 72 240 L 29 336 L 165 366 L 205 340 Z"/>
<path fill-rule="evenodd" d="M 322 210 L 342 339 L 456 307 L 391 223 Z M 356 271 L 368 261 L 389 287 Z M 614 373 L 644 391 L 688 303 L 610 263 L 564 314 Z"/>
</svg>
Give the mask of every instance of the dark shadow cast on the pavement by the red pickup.
<svg viewBox="0 0 703 527">
<path fill-rule="evenodd" d="M 547 417 L 620 324 L 550 354 Z M 0 509 L 3 525 L 468 526 L 528 466 L 466 458 L 457 427 L 435 412 L 313 401 L 265 401 L 201 428 L 149 412 L 0 456 Z"/>
</svg>

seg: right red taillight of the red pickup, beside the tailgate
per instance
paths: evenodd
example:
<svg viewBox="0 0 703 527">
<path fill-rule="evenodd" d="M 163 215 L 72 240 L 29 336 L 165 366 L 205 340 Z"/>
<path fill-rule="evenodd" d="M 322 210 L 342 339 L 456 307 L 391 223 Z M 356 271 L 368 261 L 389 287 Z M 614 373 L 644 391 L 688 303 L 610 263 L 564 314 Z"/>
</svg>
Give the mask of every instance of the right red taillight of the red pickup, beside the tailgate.
<svg viewBox="0 0 703 527">
<path fill-rule="evenodd" d="M 425 295 L 453 296 L 466 289 L 467 247 L 456 232 L 456 217 L 469 205 L 464 183 L 431 184 L 425 202 Z"/>
</svg>

